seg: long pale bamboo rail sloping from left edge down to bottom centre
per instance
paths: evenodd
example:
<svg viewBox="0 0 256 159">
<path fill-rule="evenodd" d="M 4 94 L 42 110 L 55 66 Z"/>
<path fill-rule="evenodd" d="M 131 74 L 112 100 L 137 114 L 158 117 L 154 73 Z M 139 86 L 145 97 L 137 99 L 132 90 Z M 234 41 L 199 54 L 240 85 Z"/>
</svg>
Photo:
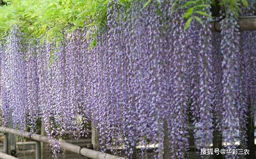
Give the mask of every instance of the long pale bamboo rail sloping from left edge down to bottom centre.
<svg viewBox="0 0 256 159">
<path fill-rule="evenodd" d="M 16 134 L 18 136 L 23 136 L 29 139 L 33 139 L 36 141 L 41 141 L 43 143 L 48 143 L 48 144 L 54 144 L 54 141 L 50 141 L 46 136 L 40 136 L 37 134 L 30 134 L 29 132 L 21 132 L 19 130 L 14 130 L 11 128 L 6 128 L 3 126 L 0 126 L 0 132 L 7 132 L 11 134 Z M 80 148 L 80 146 L 72 145 L 70 143 L 64 143 L 60 141 L 60 146 L 61 148 L 64 148 L 67 151 L 83 155 L 85 157 L 89 157 L 91 159 L 126 159 L 124 157 L 118 157 L 115 155 L 110 155 L 106 153 L 102 153 L 99 151 L 95 150 L 90 150 L 88 148 Z"/>
</svg>

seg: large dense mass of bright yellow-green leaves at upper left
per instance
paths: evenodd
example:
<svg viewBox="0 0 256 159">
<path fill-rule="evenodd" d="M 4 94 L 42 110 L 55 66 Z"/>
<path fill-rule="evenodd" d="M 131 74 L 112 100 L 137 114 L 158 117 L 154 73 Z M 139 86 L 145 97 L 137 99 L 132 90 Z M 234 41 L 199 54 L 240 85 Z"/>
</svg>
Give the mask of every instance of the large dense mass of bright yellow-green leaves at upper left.
<svg viewBox="0 0 256 159">
<path fill-rule="evenodd" d="M 0 7 L 0 38 L 13 26 L 19 27 L 25 38 L 41 42 L 63 40 L 63 30 L 80 27 L 106 26 L 109 0 L 8 0 Z"/>
</svg>

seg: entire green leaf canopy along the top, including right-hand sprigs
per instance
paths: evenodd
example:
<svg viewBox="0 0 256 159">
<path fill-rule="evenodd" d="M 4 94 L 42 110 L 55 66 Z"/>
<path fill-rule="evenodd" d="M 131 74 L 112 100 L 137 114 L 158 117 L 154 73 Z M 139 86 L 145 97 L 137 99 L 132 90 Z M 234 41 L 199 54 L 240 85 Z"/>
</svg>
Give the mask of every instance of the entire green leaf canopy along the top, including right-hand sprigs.
<svg viewBox="0 0 256 159">
<path fill-rule="evenodd" d="M 106 30 L 107 8 L 111 0 L 4 0 L 0 5 L 0 41 L 9 34 L 12 27 L 22 31 L 24 40 L 40 42 L 63 40 L 63 33 L 69 33 L 81 27 L 87 27 L 89 33 L 86 38 L 92 38 L 91 46 L 97 43 L 98 33 Z M 154 0 L 145 1 L 143 8 Z M 119 4 L 126 5 L 126 9 L 134 0 L 119 0 Z M 161 0 L 154 2 L 161 5 Z M 182 0 L 175 0 L 171 7 L 171 14 L 177 9 L 186 9 L 183 18 L 187 19 L 186 28 L 195 19 L 203 23 L 202 17 L 211 17 L 206 8 L 222 5 L 227 11 L 234 11 L 238 16 L 241 6 L 248 6 L 247 0 L 189 0 L 182 4 Z M 181 5 L 182 4 L 182 5 Z M 110 4 L 111 7 L 112 3 Z M 171 16 L 171 15 L 170 15 Z"/>
</svg>

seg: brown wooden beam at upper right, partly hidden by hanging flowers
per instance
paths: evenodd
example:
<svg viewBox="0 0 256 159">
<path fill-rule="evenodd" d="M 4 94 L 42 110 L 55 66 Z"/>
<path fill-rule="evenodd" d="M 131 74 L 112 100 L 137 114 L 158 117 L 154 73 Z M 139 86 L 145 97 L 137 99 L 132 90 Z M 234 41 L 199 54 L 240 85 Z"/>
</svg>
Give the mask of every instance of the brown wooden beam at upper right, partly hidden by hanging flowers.
<svg viewBox="0 0 256 159">
<path fill-rule="evenodd" d="M 256 31 L 256 16 L 241 16 L 237 23 L 239 31 Z M 221 32 L 221 20 L 213 20 L 210 24 L 212 32 Z"/>
</svg>

